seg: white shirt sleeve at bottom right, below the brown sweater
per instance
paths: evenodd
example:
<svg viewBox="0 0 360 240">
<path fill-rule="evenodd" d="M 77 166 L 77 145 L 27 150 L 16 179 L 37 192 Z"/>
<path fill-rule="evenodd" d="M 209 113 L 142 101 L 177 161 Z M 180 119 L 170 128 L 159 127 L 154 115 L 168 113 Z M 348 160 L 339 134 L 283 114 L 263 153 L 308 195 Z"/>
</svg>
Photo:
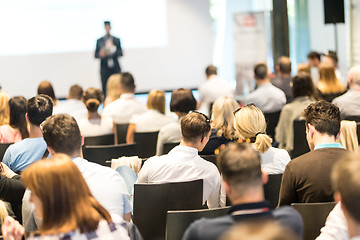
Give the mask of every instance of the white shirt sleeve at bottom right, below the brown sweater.
<svg viewBox="0 0 360 240">
<path fill-rule="evenodd" d="M 341 204 L 335 205 L 326 219 L 325 226 L 321 228 L 316 240 L 349 240 L 349 231 Z"/>
</svg>

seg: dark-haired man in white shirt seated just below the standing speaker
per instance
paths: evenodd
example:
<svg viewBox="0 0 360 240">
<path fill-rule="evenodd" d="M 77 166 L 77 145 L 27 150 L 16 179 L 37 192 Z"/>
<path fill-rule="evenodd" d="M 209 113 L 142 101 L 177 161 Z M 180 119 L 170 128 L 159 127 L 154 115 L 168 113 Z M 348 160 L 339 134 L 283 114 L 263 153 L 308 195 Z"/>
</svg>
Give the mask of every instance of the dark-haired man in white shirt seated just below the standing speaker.
<svg viewBox="0 0 360 240">
<path fill-rule="evenodd" d="M 120 98 L 107 105 L 102 116 L 111 117 L 116 124 L 129 123 L 134 114 L 146 111 L 144 104 L 135 100 L 135 81 L 133 76 L 124 72 L 120 78 Z"/>
</svg>

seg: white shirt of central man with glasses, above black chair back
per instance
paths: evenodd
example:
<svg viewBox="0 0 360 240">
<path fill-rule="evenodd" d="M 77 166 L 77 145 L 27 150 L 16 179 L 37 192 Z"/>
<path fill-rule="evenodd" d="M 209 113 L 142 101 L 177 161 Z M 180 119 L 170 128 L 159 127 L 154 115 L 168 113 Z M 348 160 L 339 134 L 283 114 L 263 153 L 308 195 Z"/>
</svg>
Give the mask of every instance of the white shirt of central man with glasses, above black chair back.
<svg viewBox="0 0 360 240">
<path fill-rule="evenodd" d="M 186 182 L 203 179 L 203 203 L 220 206 L 220 174 L 217 167 L 198 155 L 192 147 L 177 146 L 169 154 L 151 157 L 141 168 L 137 183 Z"/>
</svg>

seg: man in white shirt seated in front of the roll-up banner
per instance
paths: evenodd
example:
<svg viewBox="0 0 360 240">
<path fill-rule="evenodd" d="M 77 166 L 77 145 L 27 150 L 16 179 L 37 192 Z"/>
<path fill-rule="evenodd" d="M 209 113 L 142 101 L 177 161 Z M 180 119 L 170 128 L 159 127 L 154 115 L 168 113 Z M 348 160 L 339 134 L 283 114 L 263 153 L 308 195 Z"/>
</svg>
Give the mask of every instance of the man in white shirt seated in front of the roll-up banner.
<svg viewBox="0 0 360 240">
<path fill-rule="evenodd" d="M 280 111 L 286 103 L 285 93 L 271 84 L 268 67 L 259 63 L 254 68 L 257 88 L 244 100 L 244 104 L 254 103 L 264 113 Z"/>
</svg>

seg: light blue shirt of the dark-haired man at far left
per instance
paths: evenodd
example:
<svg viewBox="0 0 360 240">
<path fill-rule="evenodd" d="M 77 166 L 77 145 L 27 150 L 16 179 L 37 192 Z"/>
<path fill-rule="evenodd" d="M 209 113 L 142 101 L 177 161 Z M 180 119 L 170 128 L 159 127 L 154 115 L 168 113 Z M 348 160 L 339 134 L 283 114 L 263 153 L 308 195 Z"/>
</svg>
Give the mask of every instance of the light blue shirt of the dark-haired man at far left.
<svg viewBox="0 0 360 240">
<path fill-rule="evenodd" d="M 26 138 L 10 145 L 4 154 L 3 163 L 14 172 L 23 171 L 33 162 L 40 160 L 45 150 L 44 138 Z"/>
</svg>

